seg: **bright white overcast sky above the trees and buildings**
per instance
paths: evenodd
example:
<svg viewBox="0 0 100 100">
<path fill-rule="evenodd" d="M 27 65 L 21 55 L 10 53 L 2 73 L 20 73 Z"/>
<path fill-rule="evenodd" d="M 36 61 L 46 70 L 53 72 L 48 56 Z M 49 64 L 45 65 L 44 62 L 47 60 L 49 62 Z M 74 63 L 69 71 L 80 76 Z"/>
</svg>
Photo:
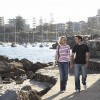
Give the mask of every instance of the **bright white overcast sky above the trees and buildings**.
<svg viewBox="0 0 100 100">
<path fill-rule="evenodd" d="M 40 17 L 44 22 L 65 23 L 67 21 L 87 21 L 88 17 L 96 16 L 100 9 L 100 0 L 1 0 L 0 16 L 7 19 L 20 15 L 32 24 L 33 17 L 39 24 Z"/>
</svg>

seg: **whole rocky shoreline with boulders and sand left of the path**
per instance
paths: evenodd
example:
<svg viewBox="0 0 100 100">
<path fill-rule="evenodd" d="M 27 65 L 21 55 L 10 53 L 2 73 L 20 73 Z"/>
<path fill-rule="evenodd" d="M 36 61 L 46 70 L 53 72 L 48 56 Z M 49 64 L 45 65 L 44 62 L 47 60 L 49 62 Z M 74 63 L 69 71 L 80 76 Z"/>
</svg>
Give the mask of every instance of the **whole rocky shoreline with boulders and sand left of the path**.
<svg viewBox="0 0 100 100">
<path fill-rule="evenodd" d="M 0 100 L 41 100 L 57 79 L 38 72 L 51 65 L 0 56 Z"/>
</svg>

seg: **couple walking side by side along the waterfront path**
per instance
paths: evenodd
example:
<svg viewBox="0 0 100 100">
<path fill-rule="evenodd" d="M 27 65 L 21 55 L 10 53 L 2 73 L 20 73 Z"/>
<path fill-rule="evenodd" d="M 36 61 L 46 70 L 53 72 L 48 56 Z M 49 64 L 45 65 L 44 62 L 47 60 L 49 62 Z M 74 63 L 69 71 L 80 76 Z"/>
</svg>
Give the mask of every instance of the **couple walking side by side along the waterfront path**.
<svg viewBox="0 0 100 100">
<path fill-rule="evenodd" d="M 76 45 L 70 53 L 70 46 L 67 45 L 65 36 L 61 36 L 58 40 L 58 46 L 56 49 L 56 61 L 58 63 L 60 73 L 60 91 L 66 90 L 66 84 L 68 80 L 69 65 L 70 68 L 74 66 L 75 75 L 75 90 L 80 92 L 80 71 L 82 72 L 82 84 L 86 89 L 87 67 L 89 62 L 89 48 L 82 43 L 82 37 L 75 36 Z"/>
</svg>

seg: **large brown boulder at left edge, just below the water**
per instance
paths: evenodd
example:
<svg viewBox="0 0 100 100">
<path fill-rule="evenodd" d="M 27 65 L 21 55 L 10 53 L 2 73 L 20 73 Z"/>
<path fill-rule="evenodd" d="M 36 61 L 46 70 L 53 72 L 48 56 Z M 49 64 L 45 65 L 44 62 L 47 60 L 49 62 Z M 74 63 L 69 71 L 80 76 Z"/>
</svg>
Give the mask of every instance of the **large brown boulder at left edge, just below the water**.
<svg viewBox="0 0 100 100">
<path fill-rule="evenodd" d="M 26 72 L 23 70 L 23 65 L 17 62 L 1 62 L 0 61 L 0 74 L 2 78 L 12 78 L 15 79 L 14 76 L 25 74 Z"/>
</svg>

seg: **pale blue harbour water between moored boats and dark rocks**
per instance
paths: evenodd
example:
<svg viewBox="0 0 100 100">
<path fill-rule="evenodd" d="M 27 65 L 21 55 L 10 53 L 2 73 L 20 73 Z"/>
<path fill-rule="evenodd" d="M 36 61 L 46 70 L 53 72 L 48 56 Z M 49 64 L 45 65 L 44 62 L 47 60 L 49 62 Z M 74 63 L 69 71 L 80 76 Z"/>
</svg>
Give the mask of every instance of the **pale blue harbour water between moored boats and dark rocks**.
<svg viewBox="0 0 100 100">
<path fill-rule="evenodd" d="M 18 45 L 17 47 L 5 46 L 2 47 L 0 45 L 0 55 L 5 55 L 10 59 L 23 59 L 26 58 L 30 61 L 34 62 L 52 62 L 54 61 L 55 50 L 49 49 L 52 43 L 49 43 L 49 46 L 39 47 L 39 43 L 32 47 L 28 45 L 27 48 L 23 45 Z"/>
</svg>

